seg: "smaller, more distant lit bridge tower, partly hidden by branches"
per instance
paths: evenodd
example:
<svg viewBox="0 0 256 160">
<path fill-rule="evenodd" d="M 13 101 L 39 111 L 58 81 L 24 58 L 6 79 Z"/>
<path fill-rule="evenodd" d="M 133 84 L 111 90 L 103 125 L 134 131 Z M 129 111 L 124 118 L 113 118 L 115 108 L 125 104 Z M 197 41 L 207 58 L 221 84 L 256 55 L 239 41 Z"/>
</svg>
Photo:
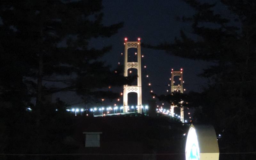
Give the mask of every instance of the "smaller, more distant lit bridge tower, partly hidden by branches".
<svg viewBox="0 0 256 160">
<path fill-rule="evenodd" d="M 177 92 L 180 91 L 180 93 L 183 93 L 183 69 L 181 68 L 180 71 L 173 71 L 172 69 L 172 77 L 171 77 L 171 92 Z M 174 85 L 174 76 L 180 76 L 180 84 Z M 174 116 L 174 105 L 171 105 L 171 116 Z M 182 123 L 184 123 L 184 108 L 180 108 L 180 120 Z"/>
</svg>

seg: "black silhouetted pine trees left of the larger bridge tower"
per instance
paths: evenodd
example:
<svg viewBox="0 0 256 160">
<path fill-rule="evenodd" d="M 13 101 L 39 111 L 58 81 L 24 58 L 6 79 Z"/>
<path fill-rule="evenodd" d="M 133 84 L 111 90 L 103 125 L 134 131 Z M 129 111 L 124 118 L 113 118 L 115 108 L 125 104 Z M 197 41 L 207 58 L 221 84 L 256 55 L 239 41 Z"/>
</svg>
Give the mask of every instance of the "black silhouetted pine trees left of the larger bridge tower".
<svg viewBox="0 0 256 160">
<path fill-rule="evenodd" d="M 101 0 L 1 2 L 0 153 L 72 153 L 63 144 L 74 129 L 67 105 L 47 96 L 75 92 L 92 103 L 120 94 L 100 89 L 129 83 L 98 60 L 111 46 L 88 47 L 123 26 L 104 26 L 102 7 Z"/>
</svg>

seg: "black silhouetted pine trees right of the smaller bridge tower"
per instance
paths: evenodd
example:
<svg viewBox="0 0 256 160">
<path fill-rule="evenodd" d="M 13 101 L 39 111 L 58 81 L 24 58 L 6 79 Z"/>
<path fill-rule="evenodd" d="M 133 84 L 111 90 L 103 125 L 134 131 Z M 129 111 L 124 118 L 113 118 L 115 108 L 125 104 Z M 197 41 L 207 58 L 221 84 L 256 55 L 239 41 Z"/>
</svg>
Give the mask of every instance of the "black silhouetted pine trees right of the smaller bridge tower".
<svg viewBox="0 0 256 160">
<path fill-rule="evenodd" d="M 184 100 L 186 97 L 190 106 L 195 107 L 194 123 L 214 125 L 216 132 L 222 135 L 220 152 L 254 152 L 256 2 L 221 0 L 209 4 L 198 0 L 184 1 L 195 14 L 177 20 L 191 23 L 193 36 L 190 37 L 191 33 L 187 36 L 188 33 L 181 30 L 181 37 L 175 38 L 173 43 L 144 46 L 214 63 L 200 75 L 209 80 L 204 92 L 183 95 Z M 175 97 L 167 97 L 167 100 L 172 99 Z"/>
</svg>

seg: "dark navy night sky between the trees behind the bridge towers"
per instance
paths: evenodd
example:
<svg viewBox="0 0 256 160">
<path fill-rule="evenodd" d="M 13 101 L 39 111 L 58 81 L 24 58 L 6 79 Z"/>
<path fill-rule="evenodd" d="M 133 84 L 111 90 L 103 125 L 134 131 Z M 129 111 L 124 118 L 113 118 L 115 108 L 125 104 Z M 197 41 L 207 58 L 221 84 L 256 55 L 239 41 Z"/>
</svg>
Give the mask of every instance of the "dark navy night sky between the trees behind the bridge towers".
<svg viewBox="0 0 256 160">
<path fill-rule="evenodd" d="M 92 39 L 90 46 L 101 48 L 106 45 L 112 45 L 112 51 L 102 58 L 112 68 L 116 68 L 121 52 L 124 52 L 124 37 L 127 37 L 128 41 L 136 41 L 140 37 L 142 43 L 152 45 L 173 42 L 175 36 L 180 36 L 180 29 L 183 29 L 188 36 L 193 37 L 191 24 L 177 20 L 177 17 L 191 16 L 194 13 L 191 7 L 182 1 L 158 0 L 145 3 L 145 1 L 138 0 L 103 0 L 103 6 L 103 24 L 111 25 L 124 22 L 124 27 L 110 38 Z M 158 95 L 168 94 L 166 90 L 171 77 L 171 68 L 174 70 L 183 68 L 186 92 L 202 92 L 202 86 L 207 83 L 207 79 L 197 75 L 202 73 L 203 68 L 207 68 L 210 65 L 209 62 L 183 59 L 169 55 L 164 51 L 146 48 L 141 48 L 141 53 L 145 56 L 142 59 L 142 63 L 147 65 L 152 89 Z M 121 63 L 123 64 L 123 59 Z M 143 104 L 147 103 L 147 100 L 151 97 L 147 84 L 145 71 L 142 68 Z M 113 91 L 123 92 L 123 87 L 112 89 Z M 68 94 L 66 93 L 66 96 L 70 99 Z M 66 97 L 65 95 L 62 96 Z M 69 102 L 71 101 L 76 103 L 80 101 L 80 98 L 75 98 L 74 101 L 70 100 Z M 122 105 L 122 103 L 123 100 L 121 99 L 119 104 Z"/>
</svg>

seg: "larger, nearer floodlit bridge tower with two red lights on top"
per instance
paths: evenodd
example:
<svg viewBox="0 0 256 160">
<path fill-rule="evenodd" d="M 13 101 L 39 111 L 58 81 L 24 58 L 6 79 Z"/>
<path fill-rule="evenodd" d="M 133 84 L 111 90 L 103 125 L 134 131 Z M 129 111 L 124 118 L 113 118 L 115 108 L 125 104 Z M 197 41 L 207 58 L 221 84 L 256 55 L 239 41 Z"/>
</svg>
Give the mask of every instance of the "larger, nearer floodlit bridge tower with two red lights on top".
<svg viewBox="0 0 256 160">
<path fill-rule="evenodd" d="M 128 49 L 137 48 L 137 62 L 128 62 Z M 128 69 L 136 68 L 138 73 L 137 85 L 128 86 L 124 85 L 124 112 L 128 112 L 128 93 L 137 93 L 137 106 L 138 113 L 142 113 L 142 90 L 141 90 L 141 53 L 140 53 L 140 38 L 137 42 L 128 42 L 124 38 L 124 76 L 128 76 Z"/>
</svg>

